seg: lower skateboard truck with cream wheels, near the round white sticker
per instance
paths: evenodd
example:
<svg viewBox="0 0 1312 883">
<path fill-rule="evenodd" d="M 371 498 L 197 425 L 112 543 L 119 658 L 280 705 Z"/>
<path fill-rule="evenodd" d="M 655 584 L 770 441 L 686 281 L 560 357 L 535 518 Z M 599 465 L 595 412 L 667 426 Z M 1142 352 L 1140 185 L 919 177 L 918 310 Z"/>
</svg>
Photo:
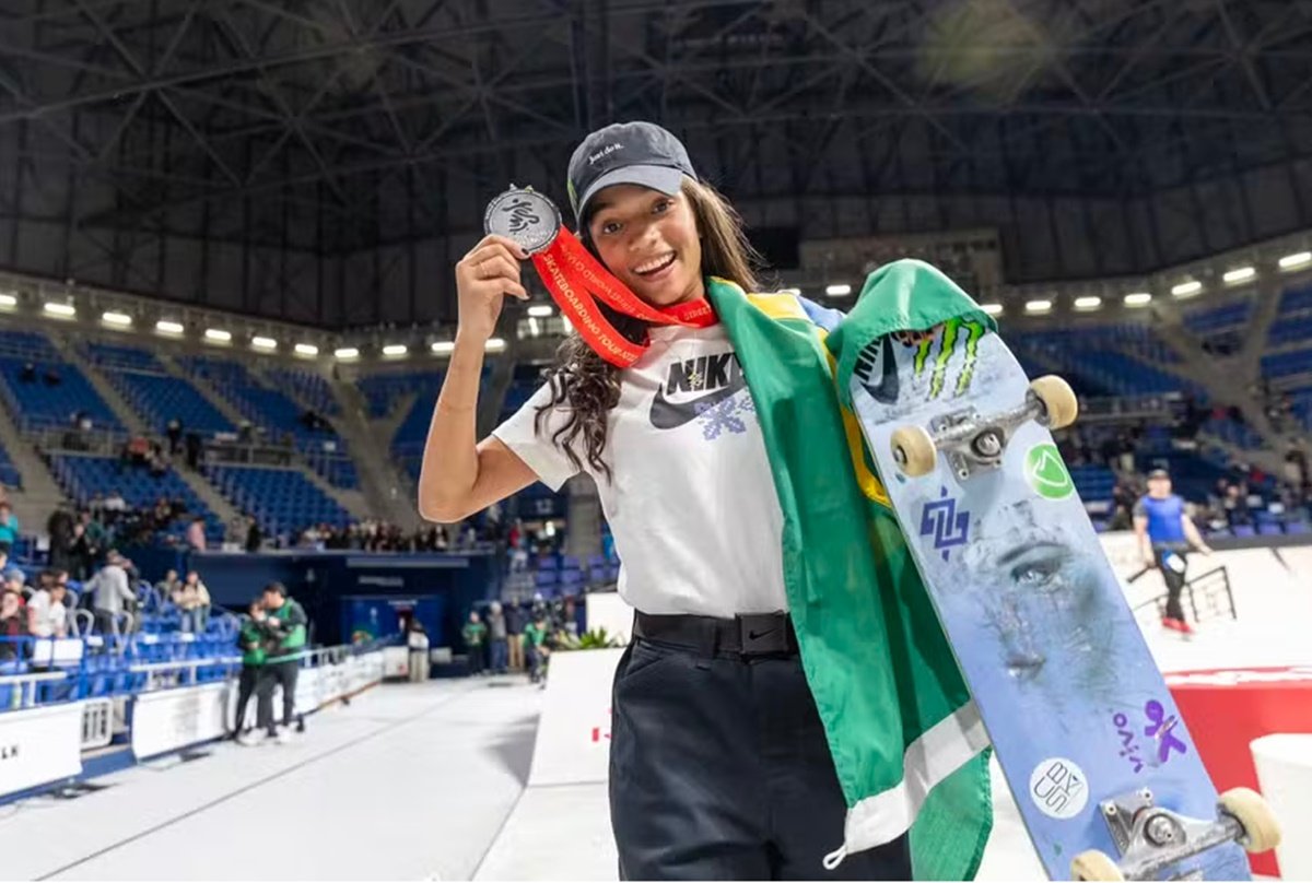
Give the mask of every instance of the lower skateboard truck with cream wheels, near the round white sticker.
<svg viewBox="0 0 1312 883">
<path fill-rule="evenodd" d="M 1273 849 L 1279 827 L 1261 795 L 1233 789 L 1220 796 L 1215 819 L 1193 819 L 1158 807 L 1148 789 L 1098 804 L 1120 861 L 1090 850 L 1076 855 L 1072 876 L 1078 880 L 1155 880 L 1172 865 L 1221 844 L 1239 842 L 1248 852 Z M 1202 879 L 1183 874 L 1172 879 Z"/>
</svg>

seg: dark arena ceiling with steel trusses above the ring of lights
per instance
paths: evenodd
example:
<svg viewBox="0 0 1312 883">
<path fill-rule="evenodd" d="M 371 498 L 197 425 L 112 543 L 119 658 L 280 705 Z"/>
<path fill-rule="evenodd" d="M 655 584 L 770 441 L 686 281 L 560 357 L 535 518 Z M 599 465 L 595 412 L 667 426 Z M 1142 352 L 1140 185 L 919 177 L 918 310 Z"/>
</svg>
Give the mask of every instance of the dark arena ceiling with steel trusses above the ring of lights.
<svg viewBox="0 0 1312 883">
<path fill-rule="evenodd" d="M 165 261 L 165 240 L 319 261 L 443 241 L 441 264 L 489 195 L 559 195 L 581 135 L 632 118 L 800 237 L 890 227 L 815 220 L 827 199 L 1130 205 L 1278 169 L 1278 222 L 1241 184 L 1227 230 L 1183 251 L 1233 247 L 1312 226 L 1312 3 L 5 0 L 0 264 L 182 299 L 164 264 L 218 257 Z M 893 226 L 962 223 L 922 214 Z M 409 306 L 366 315 L 192 276 L 206 303 L 325 324 L 442 312 L 413 279 Z"/>
</svg>

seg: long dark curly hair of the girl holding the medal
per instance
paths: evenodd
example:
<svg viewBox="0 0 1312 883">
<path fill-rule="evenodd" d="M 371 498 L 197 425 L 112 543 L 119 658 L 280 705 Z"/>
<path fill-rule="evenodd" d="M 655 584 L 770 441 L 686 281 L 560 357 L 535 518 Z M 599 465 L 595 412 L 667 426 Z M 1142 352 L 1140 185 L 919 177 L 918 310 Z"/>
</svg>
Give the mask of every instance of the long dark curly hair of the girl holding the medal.
<svg viewBox="0 0 1312 883">
<path fill-rule="evenodd" d="M 745 291 L 757 289 L 756 268 L 761 266 L 761 256 L 748 243 L 743 232 L 743 219 L 737 211 L 720 195 L 715 188 L 684 178 L 684 195 L 697 219 L 697 232 L 702 240 L 702 276 L 718 276 L 736 282 Z M 588 219 L 580 223 L 580 232 L 586 231 Z M 583 237 L 584 245 L 594 256 L 597 249 Z M 597 256 L 598 260 L 600 256 Z M 604 303 L 597 304 L 601 312 L 615 327 L 615 331 L 634 342 L 647 340 L 648 323 L 617 314 Z M 534 421 L 538 433 L 543 432 L 547 413 L 555 408 L 568 412 L 565 422 L 552 433 L 551 441 L 576 468 L 588 466 L 611 478 L 610 464 L 604 459 L 606 450 L 606 417 L 619 403 L 621 369 L 594 353 L 577 332 L 571 332 L 556 350 L 555 363 L 547 369 L 546 378 L 551 386 L 551 399 L 538 408 Z M 579 455 L 579 442 L 583 457 Z"/>
</svg>

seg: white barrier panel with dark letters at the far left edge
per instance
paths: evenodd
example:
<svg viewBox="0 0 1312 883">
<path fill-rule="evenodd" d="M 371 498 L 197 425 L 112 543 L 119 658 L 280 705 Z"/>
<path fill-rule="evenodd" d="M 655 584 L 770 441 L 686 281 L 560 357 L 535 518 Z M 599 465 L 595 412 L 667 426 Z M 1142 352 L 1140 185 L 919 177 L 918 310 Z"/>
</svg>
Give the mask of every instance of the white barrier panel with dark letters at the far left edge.
<svg viewBox="0 0 1312 883">
<path fill-rule="evenodd" d="M 7 711 L 0 726 L 0 795 L 81 773 L 81 702 Z"/>
</svg>

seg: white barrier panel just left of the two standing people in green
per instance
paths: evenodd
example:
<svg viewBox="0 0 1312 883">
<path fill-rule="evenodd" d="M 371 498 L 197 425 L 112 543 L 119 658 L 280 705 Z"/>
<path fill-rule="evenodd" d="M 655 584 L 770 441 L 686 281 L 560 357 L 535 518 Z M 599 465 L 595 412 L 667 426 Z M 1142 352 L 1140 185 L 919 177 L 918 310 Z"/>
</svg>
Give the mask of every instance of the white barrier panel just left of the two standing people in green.
<svg viewBox="0 0 1312 883">
<path fill-rule="evenodd" d="M 133 701 L 133 753 L 142 760 L 224 736 L 235 694 L 234 681 L 142 693 Z"/>
</svg>

